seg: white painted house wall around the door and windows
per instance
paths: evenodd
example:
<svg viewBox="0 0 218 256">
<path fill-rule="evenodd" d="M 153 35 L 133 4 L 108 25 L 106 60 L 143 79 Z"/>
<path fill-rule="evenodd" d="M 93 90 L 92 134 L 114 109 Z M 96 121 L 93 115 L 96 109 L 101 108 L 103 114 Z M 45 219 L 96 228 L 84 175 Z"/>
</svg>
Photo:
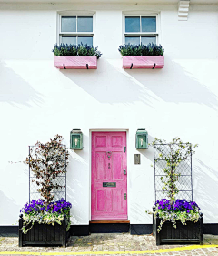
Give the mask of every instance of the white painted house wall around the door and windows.
<svg viewBox="0 0 218 256">
<path fill-rule="evenodd" d="M 51 52 L 57 11 L 96 11 L 97 70 L 58 70 Z M 122 12 L 160 12 L 161 70 L 124 70 Z M 0 225 L 14 224 L 28 200 L 28 145 L 55 134 L 69 147 L 72 128 L 84 133 L 84 150 L 71 151 L 67 200 L 75 224 L 90 220 L 90 130 L 128 130 L 128 216 L 151 223 L 153 148 L 137 151 L 137 128 L 154 138 L 199 143 L 193 157 L 193 200 L 204 221 L 218 222 L 218 5 L 191 6 L 179 22 L 177 5 L 0 4 Z M 134 165 L 134 153 L 142 164 Z"/>
</svg>

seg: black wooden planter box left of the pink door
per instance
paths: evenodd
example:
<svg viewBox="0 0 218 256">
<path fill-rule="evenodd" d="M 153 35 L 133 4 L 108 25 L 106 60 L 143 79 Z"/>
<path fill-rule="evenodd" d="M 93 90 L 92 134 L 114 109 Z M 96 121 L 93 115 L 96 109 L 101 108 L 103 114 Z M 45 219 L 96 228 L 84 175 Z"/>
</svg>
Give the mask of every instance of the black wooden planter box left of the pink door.
<svg viewBox="0 0 218 256">
<path fill-rule="evenodd" d="M 54 224 L 39 224 L 35 222 L 32 229 L 28 230 L 26 234 L 23 233 L 23 216 L 19 219 L 19 247 L 25 245 L 38 246 L 63 246 L 66 247 L 68 232 L 66 231 L 66 220 L 62 220 L 62 225 Z"/>
</svg>

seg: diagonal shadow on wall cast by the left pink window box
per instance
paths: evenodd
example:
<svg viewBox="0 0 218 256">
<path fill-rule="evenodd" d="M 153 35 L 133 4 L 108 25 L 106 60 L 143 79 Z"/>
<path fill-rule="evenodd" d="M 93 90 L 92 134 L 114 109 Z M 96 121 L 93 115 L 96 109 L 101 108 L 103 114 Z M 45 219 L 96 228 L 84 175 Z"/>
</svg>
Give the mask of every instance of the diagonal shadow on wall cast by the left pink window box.
<svg viewBox="0 0 218 256">
<path fill-rule="evenodd" d="M 62 69 L 60 72 L 99 102 L 130 104 L 143 101 L 152 107 L 155 98 L 148 89 L 121 71 L 103 58 L 98 60 L 97 70 Z"/>
</svg>

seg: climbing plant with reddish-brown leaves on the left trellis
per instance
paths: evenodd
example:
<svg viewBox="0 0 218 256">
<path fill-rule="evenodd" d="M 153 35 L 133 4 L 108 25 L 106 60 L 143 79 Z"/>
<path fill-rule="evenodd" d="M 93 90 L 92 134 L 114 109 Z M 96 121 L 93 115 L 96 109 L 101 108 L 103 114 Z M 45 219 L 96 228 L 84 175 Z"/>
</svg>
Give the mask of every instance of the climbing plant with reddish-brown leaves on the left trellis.
<svg viewBox="0 0 218 256">
<path fill-rule="evenodd" d="M 35 147 L 30 148 L 30 155 L 25 160 L 35 174 L 32 182 L 38 186 L 37 191 L 47 205 L 54 200 L 54 191 L 64 187 L 56 180 L 66 172 L 68 164 L 69 153 L 62 140 L 62 136 L 56 135 L 45 144 L 37 141 Z"/>
</svg>

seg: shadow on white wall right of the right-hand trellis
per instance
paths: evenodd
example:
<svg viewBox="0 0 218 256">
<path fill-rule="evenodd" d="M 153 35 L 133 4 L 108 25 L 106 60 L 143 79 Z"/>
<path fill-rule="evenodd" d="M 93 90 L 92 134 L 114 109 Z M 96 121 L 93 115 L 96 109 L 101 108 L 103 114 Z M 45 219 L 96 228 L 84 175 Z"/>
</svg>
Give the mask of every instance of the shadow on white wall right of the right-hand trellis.
<svg viewBox="0 0 218 256">
<path fill-rule="evenodd" d="M 196 161 L 197 164 L 193 167 L 195 183 L 193 200 L 203 209 L 204 217 L 213 220 L 214 223 L 217 222 L 218 216 L 218 172 L 204 164 L 202 160 L 196 159 Z"/>
</svg>

